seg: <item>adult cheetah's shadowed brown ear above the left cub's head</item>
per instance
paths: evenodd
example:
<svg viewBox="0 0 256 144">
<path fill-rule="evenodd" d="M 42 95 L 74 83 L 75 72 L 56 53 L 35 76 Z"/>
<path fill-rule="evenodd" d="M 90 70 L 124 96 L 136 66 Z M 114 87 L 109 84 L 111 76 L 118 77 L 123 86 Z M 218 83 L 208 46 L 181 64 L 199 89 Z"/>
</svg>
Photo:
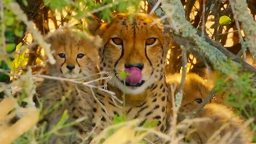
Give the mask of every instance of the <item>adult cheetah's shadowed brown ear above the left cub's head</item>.
<svg viewBox="0 0 256 144">
<path fill-rule="evenodd" d="M 90 33 L 92 35 L 95 35 L 96 31 L 101 26 L 101 21 L 96 16 L 91 15 L 90 17 L 87 18 L 87 25 L 88 25 L 88 29 L 89 29 Z"/>
</svg>

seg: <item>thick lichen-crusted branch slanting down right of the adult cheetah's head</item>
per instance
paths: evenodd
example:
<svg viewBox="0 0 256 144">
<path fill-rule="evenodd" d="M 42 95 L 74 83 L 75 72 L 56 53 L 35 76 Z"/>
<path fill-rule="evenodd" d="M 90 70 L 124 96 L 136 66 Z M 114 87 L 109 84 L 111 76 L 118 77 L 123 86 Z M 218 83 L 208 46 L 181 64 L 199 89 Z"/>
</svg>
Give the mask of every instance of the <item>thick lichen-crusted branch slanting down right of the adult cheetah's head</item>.
<svg viewBox="0 0 256 144">
<path fill-rule="evenodd" d="M 228 69 L 225 68 L 228 67 L 226 55 L 217 50 L 211 44 L 207 43 L 203 36 L 199 36 L 197 34 L 196 28 L 191 26 L 191 24 L 186 20 L 185 11 L 179 0 L 163 0 L 162 8 L 167 15 L 167 19 L 171 25 L 170 28 L 173 30 L 174 34 L 193 39 L 197 46 L 194 50 L 209 60 L 214 68 L 222 71 L 222 73 L 229 73 Z M 179 25 L 175 23 L 178 23 Z"/>
</svg>

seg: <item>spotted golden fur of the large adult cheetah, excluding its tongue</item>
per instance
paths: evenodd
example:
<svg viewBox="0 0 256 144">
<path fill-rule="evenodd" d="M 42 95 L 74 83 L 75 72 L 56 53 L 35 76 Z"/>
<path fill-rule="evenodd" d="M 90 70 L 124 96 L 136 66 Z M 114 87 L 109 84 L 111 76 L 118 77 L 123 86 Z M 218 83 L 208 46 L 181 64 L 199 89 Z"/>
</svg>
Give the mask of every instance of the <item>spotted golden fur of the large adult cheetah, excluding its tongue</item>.
<svg viewBox="0 0 256 144">
<path fill-rule="evenodd" d="M 163 34 L 161 24 L 147 14 L 118 14 L 110 23 L 103 23 L 96 34 L 103 39 L 100 48 L 100 69 L 108 71 L 112 78 L 108 89 L 116 92 L 122 100 L 125 92 L 125 114 L 127 120 L 140 118 L 139 126 L 146 121 L 157 121 L 157 130 L 165 131 L 167 89 L 164 76 L 169 38 Z M 95 26 L 95 23 L 94 23 Z M 121 77 L 126 68 L 140 69 L 141 82 L 136 85 L 124 83 Z M 114 115 L 122 115 L 123 108 L 117 107 L 108 95 L 100 95 L 100 106 L 95 106 L 94 123 L 101 118 L 99 131 L 111 124 Z M 120 103 L 118 103 L 121 105 Z M 122 106 L 122 105 L 121 105 Z"/>
</svg>

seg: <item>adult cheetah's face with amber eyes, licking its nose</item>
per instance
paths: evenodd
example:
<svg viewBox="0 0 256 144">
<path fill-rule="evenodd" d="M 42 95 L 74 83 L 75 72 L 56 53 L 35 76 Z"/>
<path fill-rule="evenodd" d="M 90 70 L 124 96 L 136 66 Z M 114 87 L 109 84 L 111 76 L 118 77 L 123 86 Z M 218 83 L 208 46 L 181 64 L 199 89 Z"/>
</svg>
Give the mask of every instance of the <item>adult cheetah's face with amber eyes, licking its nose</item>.
<svg viewBox="0 0 256 144">
<path fill-rule="evenodd" d="M 100 49 L 100 68 L 112 76 L 110 85 L 138 94 L 163 78 L 169 38 L 149 15 L 130 16 L 118 14 L 98 30 L 104 45 Z M 122 71 L 130 76 L 123 79 Z"/>
</svg>

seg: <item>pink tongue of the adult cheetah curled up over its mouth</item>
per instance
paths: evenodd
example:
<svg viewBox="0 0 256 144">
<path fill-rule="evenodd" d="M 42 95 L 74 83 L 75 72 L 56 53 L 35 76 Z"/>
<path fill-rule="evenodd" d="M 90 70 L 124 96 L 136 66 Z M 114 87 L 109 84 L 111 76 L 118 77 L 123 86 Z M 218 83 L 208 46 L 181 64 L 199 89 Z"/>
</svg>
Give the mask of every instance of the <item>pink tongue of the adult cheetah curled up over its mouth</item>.
<svg viewBox="0 0 256 144">
<path fill-rule="evenodd" d="M 139 68 L 137 67 L 125 68 L 124 71 L 126 73 L 130 73 L 129 76 L 126 76 L 125 82 L 129 83 L 130 85 L 136 85 L 138 83 L 141 83 L 142 73 Z"/>
</svg>

